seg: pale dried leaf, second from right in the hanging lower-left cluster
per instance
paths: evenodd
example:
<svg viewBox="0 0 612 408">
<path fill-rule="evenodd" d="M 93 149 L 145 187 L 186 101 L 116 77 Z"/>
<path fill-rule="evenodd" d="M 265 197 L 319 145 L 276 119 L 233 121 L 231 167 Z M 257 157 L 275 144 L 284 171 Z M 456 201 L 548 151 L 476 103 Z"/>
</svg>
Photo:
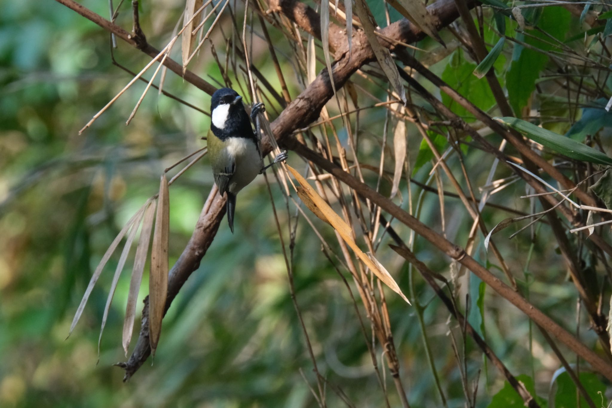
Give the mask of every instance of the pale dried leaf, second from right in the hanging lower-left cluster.
<svg viewBox="0 0 612 408">
<path fill-rule="evenodd" d="M 144 211 L 143 227 L 140 230 L 136 256 L 134 257 L 134 267 L 132 269 L 132 280 L 130 280 L 130 291 L 127 295 L 127 306 L 125 307 L 125 320 L 123 323 L 122 345 L 127 357 L 127 350 L 132 341 L 134 319 L 136 316 L 136 300 L 140 291 L 140 283 L 143 280 L 144 264 L 149 253 L 149 242 L 151 241 L 151 230 L 155 219 L 155 201 L 151 201 Z"/>
</svg>

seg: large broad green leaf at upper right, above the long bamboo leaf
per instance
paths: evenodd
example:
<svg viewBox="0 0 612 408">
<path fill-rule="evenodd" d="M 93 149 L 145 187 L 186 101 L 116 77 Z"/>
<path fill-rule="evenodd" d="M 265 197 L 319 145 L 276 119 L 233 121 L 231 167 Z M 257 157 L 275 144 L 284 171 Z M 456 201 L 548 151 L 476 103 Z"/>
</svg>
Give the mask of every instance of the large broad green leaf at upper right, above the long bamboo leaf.
<svg viewBox="0 0 612 408">
<path fill-rule="evenodd" d="M 525 16 L 527 19 L 528 16 Z M 571 16 L 562 7 L 545 7 L 538 18 L 537 15 L 529 15 L 529 21 L 537 21 L 538 28 L 552 35 L 558 40 L 563 40 L 569 30 Z M 540 50 L 551 49 L 551 39 L 543 32 L 529 30 L 530 35 L 517 34 L 517 39 L 535 46 Z M 533 37 L 543 39 L 537 40 Z M 548 62 L 548 56 L 531 48 L 524 48 L 515 44 L 512 55 L 512 64 L 506 74 L 506 87 L 508 89 L 508 100 L 512 109 L 518 115 L 527 105 L 529 97 L 535 90 L 535 80 L 539 78 L 540 72 Z"/>
</svg>

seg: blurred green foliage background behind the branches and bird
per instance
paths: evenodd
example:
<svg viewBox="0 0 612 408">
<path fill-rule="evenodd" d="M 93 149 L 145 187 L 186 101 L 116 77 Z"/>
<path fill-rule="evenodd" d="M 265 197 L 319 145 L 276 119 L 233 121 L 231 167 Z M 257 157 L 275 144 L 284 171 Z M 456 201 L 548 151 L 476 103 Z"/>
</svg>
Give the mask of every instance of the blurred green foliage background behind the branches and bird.
<svg viewBox="0 0 612 408">
<path fill-rule="evenodd" d="M 111 281 L 109 271 L 116 266 L 117 255 L 106 266 L 75 332 L 65 339 L 76 306 L 106 248 L 125 221 L 156 192 L 163 169 L 203 146 L 200 136 L 208 128 L 209 119 L 151 91 L 132 124 L 125 127 L 125 119 L 145 86 L 136 83 L 91 128 L 78 135 L 78 130 L 131 78 L 113 65 L 108 33 L 57 2 L 4 1 L 0 5 L 0 406 L 315 406 L 309 388 L 315 384 L 313 364 L 289 294 L 285 261 L 263 177 L 239 197 L 237 234 L 230 234 L 223 221 L 200 269 L 174 300 L 164 320 L 153 365 L 146 363 L 128 384 L 121 382 L 122 370 L 111 366 L 124 359 L 121 329 L 130 262 L 119 281 L 102 338 L 102 352 L 97 356 L 99 325 Z M 85 0 L 83 5 L 108 17 L 106 2 Z M 160 46 L 168 40 L 181 7 L 179 1 L 143 2 L 141 24 L 149 42 Z M 129 28 L 129 6 L 121 10 L 117 23 Z M 373 7 L 373 12 L 378 23 L 386 25 L 384 9 Z M 391 17 L 397 20 L 393 12 Z M 548 21 L 546 16 L 542 20 Z M 563 21 L 562 27 L 567 27 L 565 16 Z M 293 50 L 283 45 L 283 34 L 271 31 L 271 35 L 285 55 L 291 55 Z M 495 43 L 498 37 L 487 29 L 485 39 Z M 255 47 L 253 61 L 278 90 L 274 66 L 263 44 Z M 425 39 L 419 46 L 433 50 L 438 45 Z M 207 48 L 202 51 L 190 69 L 206 80 L 221 80 L 208 52 Z M 521 58 L 527 52 L 523 50 Z M 120 40 L 114 56 L 119 64 L 135 72 L 149 61 L 149 57 Z M 173 57 L 180 59 L 179 50 Z M 502 54 L 494 69 L 501 83 L 507 78 L 510 85 L 515 63 L 520 59 L 510 62 L 507 57 Z M 294 65 L 285 56 L 281 64 L 284 72 L 293 72 Z M 543 61 L 537 65 L 537 73 L 529 77 L 533 77 L 532 81 L 545 64 Z M 319 61 L 318 69 L 322 67 Z M 474 67 L 476 63 L 457 50 L 431 66 L 431 70 L 480 108 L 491 109 L 493 96 L 486 80 L 472 75 Z M 301 89 L 299 81 L 288 82 L 289 92 L 295 97 Z M 376 97 L 384 97 L 383 91 L 367 81 L 360 84 Z M 207 95 L 172 73 L 168 73 L 164 89 L 200 108 L 208 107 Z M 514 91 L 518 92 L 518 85 L 509 92 L 511 102 Z M 433 110 L 414 97 L 422 109 Z M 454 106 L 444 95 L 441 98 L 456 113 L 472 120 L 463 108 Z M 524 106 L 522 94 L 516 100 L 515 108 Z M 544 97 L 542 106 L 543 101 Z M 566 108 L 555 108 L 568 114 Z M 278 109 L 277 105 L 268 105 L 273 117 Z M 330 108 L 332 113 L 333 109 Z M 377 167 L 384 115 L 384 109 L 370 109 L 360 116 L 359 157 Z M 339 137 L 346 146 L 346 132 L 340 132 Z M 496 135 L 490 139 L 496 143 L 500 140 Z M 435 143 L 441 151 L 446 149 L 443 137 L 437 137 Z M 408 148 L 411 163 L 417 162 L 414 177 L 425 182 L 433 155 L 412 127 Z M 485 154 L 480 150 L 468 150 L 468 146 L 462 149 L 465 165 L 474 174 L 471 182 L 483 185 L 490 162 L 483 160 Z M 392 152 L 387 153 L 392 156 Z M 290 162 L 302 165 L 296 157 L 291 157 Z M 453 158 L 450 165 L 458 174 L 459 161 Z M 392 169 L 392 163 L 386 163 L 385 169 Z M 507 177 L 509 171 L 502 169 L 497 175 Z M 367 173 L 365 177 L 370 185 L 376 184 L 375 174 Z M 465 187 L 465 180 L 460 182 Z M 171 264 L 185 247 L 211 187 L 206 158 L 171 187 Z M 381 191 L 389 190 L 390 183 L 383 180 Z M 272 191 L 280 209 L 283 234 L 288 236 L 285 201 L 277 185 L 272 185 Z M 420 200 L 419 192 L 412 190 L 414 202 Z M 529 211 L 528 203 L 518 199 L 523 193 L 523 185 L 514 184 L 492 201 Z M 402 205 L 407 208 L 408 188 L 404 182 L 401 195 L 405 200 Z M 438 197 L 424 193 L 420 202 L 420 220 L 439 229 Z M 289 214 L 293 216 L 294 212 L 294 207 L 289 206 Z M 449 239 L 465 245 L 471 220 L 465 217 L 456 199 L 447 198 L 445 217 Z M 506 217 L 498 210 L 483 211 L 487 225 Z M 310 218 L 328 242 L 333 242 L 334 233 L 315 217 Z M 396 228 L 407 240 L 411 231 L 401 225 Z M 408 267 L 386 248 L 387 242 L 383 237 L 378 257 L 407 294 Z M 530 248 L 536 255 L 529 264 L 522 256 L 512 256 Z M 528 266 L 537 275 L 537 280 L 520 283 L 521 287 L 529 287 L 530 300 L 567 327 L 575 327 L 575 322 L 567 320 L 575 310 L 574 288 L 560 272 L 563 262 L 555 249 L 546 236 L 531 239 L 527 232 L 504 242 L 502 247 L 513 269 L 520 271 Z M 432 270 L 448 272 L 447 259 L 424 240 L 416 240 L 415 252 Z M 481 261 L 485 263 L 486 259 Z M 360 333 L 351 296 L 334 266 L 321 253 L 315 234 L 301 218 L 294 263 L 297 302 L 319 371 L 356 406 L 383 406 L 384 393 Z M 347 271 L 341 273 L 349 278 Z M 141 298 L 146 288 L 145 274 Z M 531 354 L 527 319 L 490 291 L 481 292 L 478 285 L 476 288 L 479 299 L 472 300 L 479 310 L 474 313 L 480 315 L 486 327 L 488 343 L 513 373 L 531 373 L 534 369 L 535 379 L 520 378 L 530 390 L 547 395 L 551 373 L 558 368 L 547 345 L 534 335 Z M 356 289 L 351 289 L 356 295 Z M 447 335 L 448 313 L 418 279 L 416 293 L 417 299 L 412 300 L 424 306 L 433 360 L 449 406 L 463 406 L 460 371 Z M 139 314 L 140 305 L 139 302 Z M 360 302 L 358 305 L 365 319 L 365 310 Z M 440 406 L 414 309 L 389 292 L 387 305 L 409 401 L 417 407 Z M 368 324 L 366 329 L 370 336 Z M 594 338 L 594 333 L 586 330 L 581 335 L 589 344 L 594 343 Z M 508 388 L 502 377 L 493 368 L 478 374 L 483 368 L 482 357 L 469 340 L 465 352 L 468 378 L 480 384 L 477 406 L 490 402 L 491 406 L 508 406 L 494 404 L 506 398 Z M 386 365 L 381 365 L 380 345 L 375 354 L 379 369 L 385 372 L 390 405 L 398 406 L 399 399 L 391 391 L 390 373 Z M 341 405 L 330 388 L 326 394 L 328 406 Z"/>
</svg>

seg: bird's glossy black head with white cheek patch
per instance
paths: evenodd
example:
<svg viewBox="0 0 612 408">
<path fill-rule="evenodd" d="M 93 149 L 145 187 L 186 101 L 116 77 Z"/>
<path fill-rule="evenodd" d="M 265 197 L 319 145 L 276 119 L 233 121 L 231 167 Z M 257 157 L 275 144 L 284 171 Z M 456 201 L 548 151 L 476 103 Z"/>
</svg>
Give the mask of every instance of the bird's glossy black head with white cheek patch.
<svg viewBox="0 0 612 408">
<path fill-rule="evenodd" d="M 231 88 L 221 88 L 212 94 L 211 130 L 218 138 L 253 138 L 253 129 L 242 97 Z"/>
</svg>

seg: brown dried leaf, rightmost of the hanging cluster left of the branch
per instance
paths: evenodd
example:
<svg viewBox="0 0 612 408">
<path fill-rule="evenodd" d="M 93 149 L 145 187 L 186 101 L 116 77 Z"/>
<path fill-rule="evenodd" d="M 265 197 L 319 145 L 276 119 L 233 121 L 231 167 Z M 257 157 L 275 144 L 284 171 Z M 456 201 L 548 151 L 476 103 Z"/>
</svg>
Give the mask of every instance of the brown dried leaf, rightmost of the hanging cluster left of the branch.
<svg viewBox="0 0 612 408">
<path fill-rule="evenodd" d="M 149 274 L 149 344 L 155 355 L 162 332 L 163 311 L 168 293 L 168 236 L 170 235 L 170 196 L 168 179 L 163 174 L 157 199 L 155 232 L 151 247 L 151 273 Z"/>
</svg>

